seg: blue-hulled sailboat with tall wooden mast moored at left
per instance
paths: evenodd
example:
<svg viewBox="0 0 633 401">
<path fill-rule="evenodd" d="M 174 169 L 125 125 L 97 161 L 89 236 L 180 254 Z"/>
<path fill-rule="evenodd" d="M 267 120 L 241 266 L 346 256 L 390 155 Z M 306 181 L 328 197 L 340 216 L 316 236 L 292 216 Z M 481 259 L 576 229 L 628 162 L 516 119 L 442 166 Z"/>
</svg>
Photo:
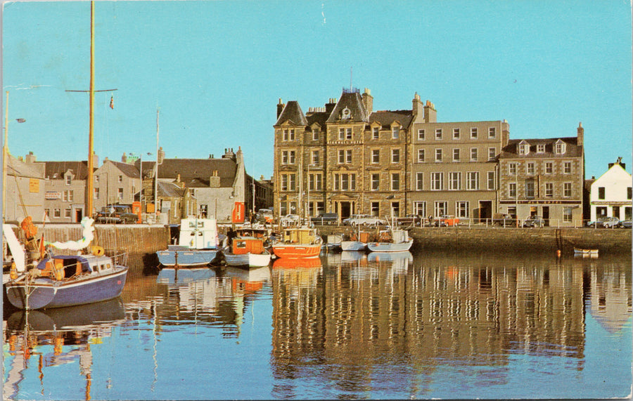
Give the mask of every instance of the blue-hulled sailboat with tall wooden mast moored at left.
<svg viewBox="0 0 633 401">
<path fill-rule="evenodd" d="M 61 308 L 107 301 L 120 296 L 127 277 L 127 254 L 106 256 L 101 246 L 89 244 L 94 239 L 94 220 L 92 193 L 93 181 L 93 137 L 94 137 L 94 1 L 90 4 L 90 124 L 88 145 L 88 190 L 87 207 L 82 219 L 82 239 L 78 241 L 45 243 L 39 241 L 39 260 L 32 261 L 34 267 L 15 265 L 11 269 L 9 280 L 4 283 L 6 295 L 11 305 L 20 309 Z M 110 90 L 112 91 L 112 90 Z M 21 224 L 27 233 L 25 237 L 34 238 L 37 228 L 30 217 Z M 9 226 L 3 226 L 6 238 L 11 237 Z M 32 242 L 32 241 L 30 241 Z M 22 244 L 14 244 L 11 249 L 14 256 L 25 255 Z M 21 249 L 20 249 L 21 248 Z M 84 254 L 54 255 L 52 248 L 71 251 L 86 251 Z M 22 259 L 21 257 L 18 258 Z M 4 277 L 3 277 L 4 279 Z M 4 281 L 4 280 L 3 280 Z"/>
</svg>

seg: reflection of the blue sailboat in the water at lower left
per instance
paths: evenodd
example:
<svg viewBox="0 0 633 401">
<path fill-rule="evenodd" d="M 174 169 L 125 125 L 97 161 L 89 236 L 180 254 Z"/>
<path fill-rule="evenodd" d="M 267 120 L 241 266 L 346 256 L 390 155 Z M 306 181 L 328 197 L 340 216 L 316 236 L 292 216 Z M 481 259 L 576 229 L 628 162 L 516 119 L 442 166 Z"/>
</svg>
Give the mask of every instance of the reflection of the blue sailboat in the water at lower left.
<svg viewBox="0 0 633 401">
<path fill-rule="evenodd" d="M 10 313 L 5 310 L 5 313 Z M 110 301 L 51 310 L 18 310 L 6 319 L 5 399 L 14 399 L 25 379 L 25 370 L 37 360 L 41 395 L 47 392 L 45 374 L 49 367 L 79 364 L 84 376 L 84 396 L 91 398 L 91 346 L 112 336 L 113 327 L 123 324 L 125 313 L 121 298 Z"/>
</svg>

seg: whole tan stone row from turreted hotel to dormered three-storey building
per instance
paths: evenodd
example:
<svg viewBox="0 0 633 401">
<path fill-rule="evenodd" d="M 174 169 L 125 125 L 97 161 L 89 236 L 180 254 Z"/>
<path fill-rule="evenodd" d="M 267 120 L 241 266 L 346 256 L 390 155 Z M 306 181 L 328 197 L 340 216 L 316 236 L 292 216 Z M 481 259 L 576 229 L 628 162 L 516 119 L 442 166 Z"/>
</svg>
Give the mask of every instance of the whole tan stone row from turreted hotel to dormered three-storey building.
<svg viewBox="0 0 633 401">
<path fill-rule="evenodd" d="M 417 93 L 410 110 L 373 110 L 368 89 L 350 88 L 307 114 L 280 99 L 274 129 L 282 216 L 582 219 L 582 127 L 577 138 L 510 140 L 505 120 L 437 122 L 435 105 Z"/>
</svg>

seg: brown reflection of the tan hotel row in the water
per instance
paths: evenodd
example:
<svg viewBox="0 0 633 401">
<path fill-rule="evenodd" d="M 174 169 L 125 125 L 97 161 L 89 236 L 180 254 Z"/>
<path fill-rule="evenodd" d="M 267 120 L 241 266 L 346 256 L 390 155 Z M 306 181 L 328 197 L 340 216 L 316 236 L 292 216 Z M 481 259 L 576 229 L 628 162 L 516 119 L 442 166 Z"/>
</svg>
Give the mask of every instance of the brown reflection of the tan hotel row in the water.
<svg viewBox="0 0 633 401">
<path fill-rule="evenodd" d="M 375 388 L 375 361 L 399 358 L 415 367 L 411 376 L 399 375 L 402 381 L 418 380 L 442 360 L 507 364 L 509 350 L 559 353 L 582 367 L 582 267 L 491 266 L 431 254 L 408 271 L 401 261 L 395 268 L 368 263 L 366 275 L 330 266 L 303 286 L 273 271 L 272 365 L 279 382 L 321 374 L 312 369 L 314 358 L 328 360 L 328 379 L 341 388 Z M 277 388 L 280 396 L 291 395 L 290 382 Z"/>
</svg>

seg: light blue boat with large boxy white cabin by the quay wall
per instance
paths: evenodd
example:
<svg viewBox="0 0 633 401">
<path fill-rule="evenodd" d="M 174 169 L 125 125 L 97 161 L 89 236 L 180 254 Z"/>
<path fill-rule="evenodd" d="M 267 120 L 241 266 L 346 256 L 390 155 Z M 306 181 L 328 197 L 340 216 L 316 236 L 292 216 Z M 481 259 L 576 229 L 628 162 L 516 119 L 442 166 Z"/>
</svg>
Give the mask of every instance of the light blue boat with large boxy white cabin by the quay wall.
<svg viewBox="0 0 633 401">
<path fill-rule="evenodd" d="M 178 244 L 156 254 L 163 266 L 202 266 L 215 261 L 218 246 L 215 218 L 183 218 Z"/>
</svg>

